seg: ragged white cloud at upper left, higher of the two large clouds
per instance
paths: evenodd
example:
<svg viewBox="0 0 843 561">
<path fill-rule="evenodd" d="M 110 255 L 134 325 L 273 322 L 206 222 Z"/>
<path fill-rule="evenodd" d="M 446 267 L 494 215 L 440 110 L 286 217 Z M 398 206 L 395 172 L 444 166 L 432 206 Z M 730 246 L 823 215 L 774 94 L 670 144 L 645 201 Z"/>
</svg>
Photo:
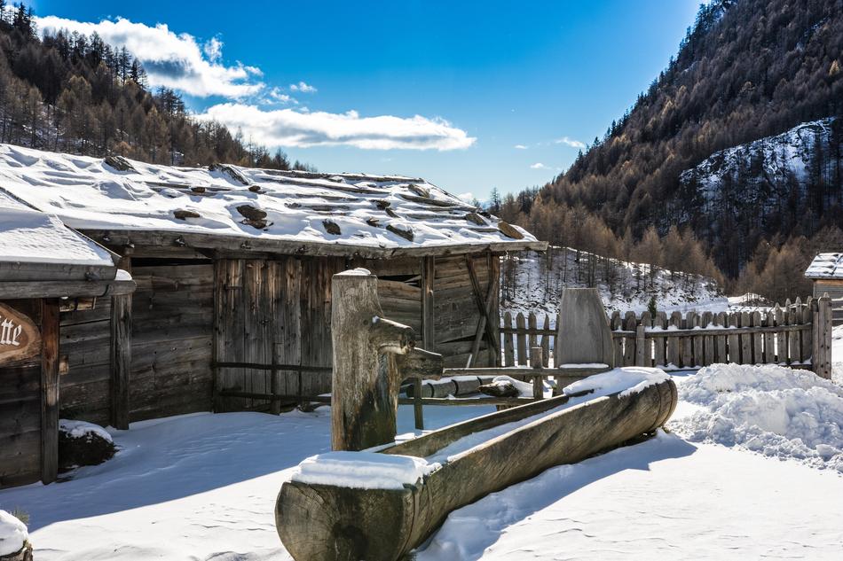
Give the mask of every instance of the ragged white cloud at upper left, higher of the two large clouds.
<svg viewBox="0 0 843 561">
<path fill-rule="evenodd" d="M 56 16 L 35 18 L 42 34 L 59 29 L 84 35 L 97 32 L 108 44 L 125 46 L 146 68 L 151 86 L 165 86 L 198 97 L 222 96 L 233 99 L 260 91 L 264 84 L 255 82 L 263 74 L 255 66 L 225 66 L 220 62 L 223 43 L 216 37 L 204 43 L 193 35 L 176 35 L 166 24 L 149 27 L 129 19 L 104 19 L 98 23 L 64 19 Z"/>
</svg>

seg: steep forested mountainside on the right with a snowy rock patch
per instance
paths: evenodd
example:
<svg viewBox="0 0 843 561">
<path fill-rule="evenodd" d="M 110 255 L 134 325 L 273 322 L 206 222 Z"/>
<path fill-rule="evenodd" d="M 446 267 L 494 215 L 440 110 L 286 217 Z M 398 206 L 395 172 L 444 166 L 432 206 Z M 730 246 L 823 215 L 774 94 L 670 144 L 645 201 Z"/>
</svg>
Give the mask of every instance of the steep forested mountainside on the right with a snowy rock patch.
<svg viewBox="0 0 843 561">
<path fill-rule="evenodd" d="M 733 280 L 749 282 L 753 256 L 762 270 L 785 246 L 799 269 L 818 245 L 843 244 L 843 120 L 832 119 L 843 113 L 841 53 L 841 0 L 705 4 L 631 110 L 563 175 L 502 201 L 500 213 L 560 245 L 579 234 L 558 217 L 589 216 L 611 231 L 614 255 L 650 228 L 664 241 L 678 226 Z M 791 129 L 801 130 L 800 154 L 788 168 L 778 164 L 793 163 Z M 579 230 L 582 218 L 572 222 Z"/>
</svg>

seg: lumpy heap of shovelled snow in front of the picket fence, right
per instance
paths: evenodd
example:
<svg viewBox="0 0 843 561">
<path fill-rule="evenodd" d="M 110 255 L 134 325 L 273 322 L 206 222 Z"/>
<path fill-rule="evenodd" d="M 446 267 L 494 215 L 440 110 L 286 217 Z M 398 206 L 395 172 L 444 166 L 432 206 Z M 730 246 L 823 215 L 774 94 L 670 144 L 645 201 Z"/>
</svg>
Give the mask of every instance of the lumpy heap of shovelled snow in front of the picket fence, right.
<svg viewBox="0 0 843 561">
<path fill-rule="evenodd" d="M 843 387 L 812 372 L 714 364 L 681 382 L 679 397 L 703 406 L 671 422 L 688 440 L 843 472 Z"/>
</svg>

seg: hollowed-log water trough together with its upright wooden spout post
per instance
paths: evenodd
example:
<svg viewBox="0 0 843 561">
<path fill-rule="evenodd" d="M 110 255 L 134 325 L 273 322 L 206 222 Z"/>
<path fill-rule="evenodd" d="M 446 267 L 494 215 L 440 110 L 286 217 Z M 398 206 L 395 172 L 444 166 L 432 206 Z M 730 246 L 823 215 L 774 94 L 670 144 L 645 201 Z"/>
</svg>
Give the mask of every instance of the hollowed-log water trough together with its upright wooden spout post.
<svg viewBox="0 0 843 561">
<path fill-rule="evenodd" d="M 393 443 L 400 382 L 393 363 L 412 352 L 412 330 L 380 317 L 367 273 L 334 277 L 332 442 L 335 450 L 363 451 L 309 458 L 281 486 L 276 526 L 295 561 L 396 561 L 451 511 L 653 432 L 674 411 L 676 386 L 664 372 L 616 369 L 548 400 Z M 595 308 L 596 298 L 571 292 L 563 309 L 566 300 Z M 581 317 L 593 334 L 587 347 L 595 348 L 581 360 L 611 366 L 604 344 L 611 332 L 603 308 L 596 312 Z"/>
</svg>

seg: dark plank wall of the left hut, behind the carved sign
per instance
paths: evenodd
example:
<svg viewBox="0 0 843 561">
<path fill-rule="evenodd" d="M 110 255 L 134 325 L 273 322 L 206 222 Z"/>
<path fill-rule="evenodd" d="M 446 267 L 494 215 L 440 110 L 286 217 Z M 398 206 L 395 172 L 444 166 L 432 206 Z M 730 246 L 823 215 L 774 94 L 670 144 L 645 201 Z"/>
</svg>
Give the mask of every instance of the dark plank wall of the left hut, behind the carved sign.
<svg viewBox="0 0 843 561">
<path fill-rule="evenodd" d="M 5 300 L 41 326 L 41 300 Z M 0 367 L 0 487 L 41 479 L 41 356 Z"/>
</svg>

